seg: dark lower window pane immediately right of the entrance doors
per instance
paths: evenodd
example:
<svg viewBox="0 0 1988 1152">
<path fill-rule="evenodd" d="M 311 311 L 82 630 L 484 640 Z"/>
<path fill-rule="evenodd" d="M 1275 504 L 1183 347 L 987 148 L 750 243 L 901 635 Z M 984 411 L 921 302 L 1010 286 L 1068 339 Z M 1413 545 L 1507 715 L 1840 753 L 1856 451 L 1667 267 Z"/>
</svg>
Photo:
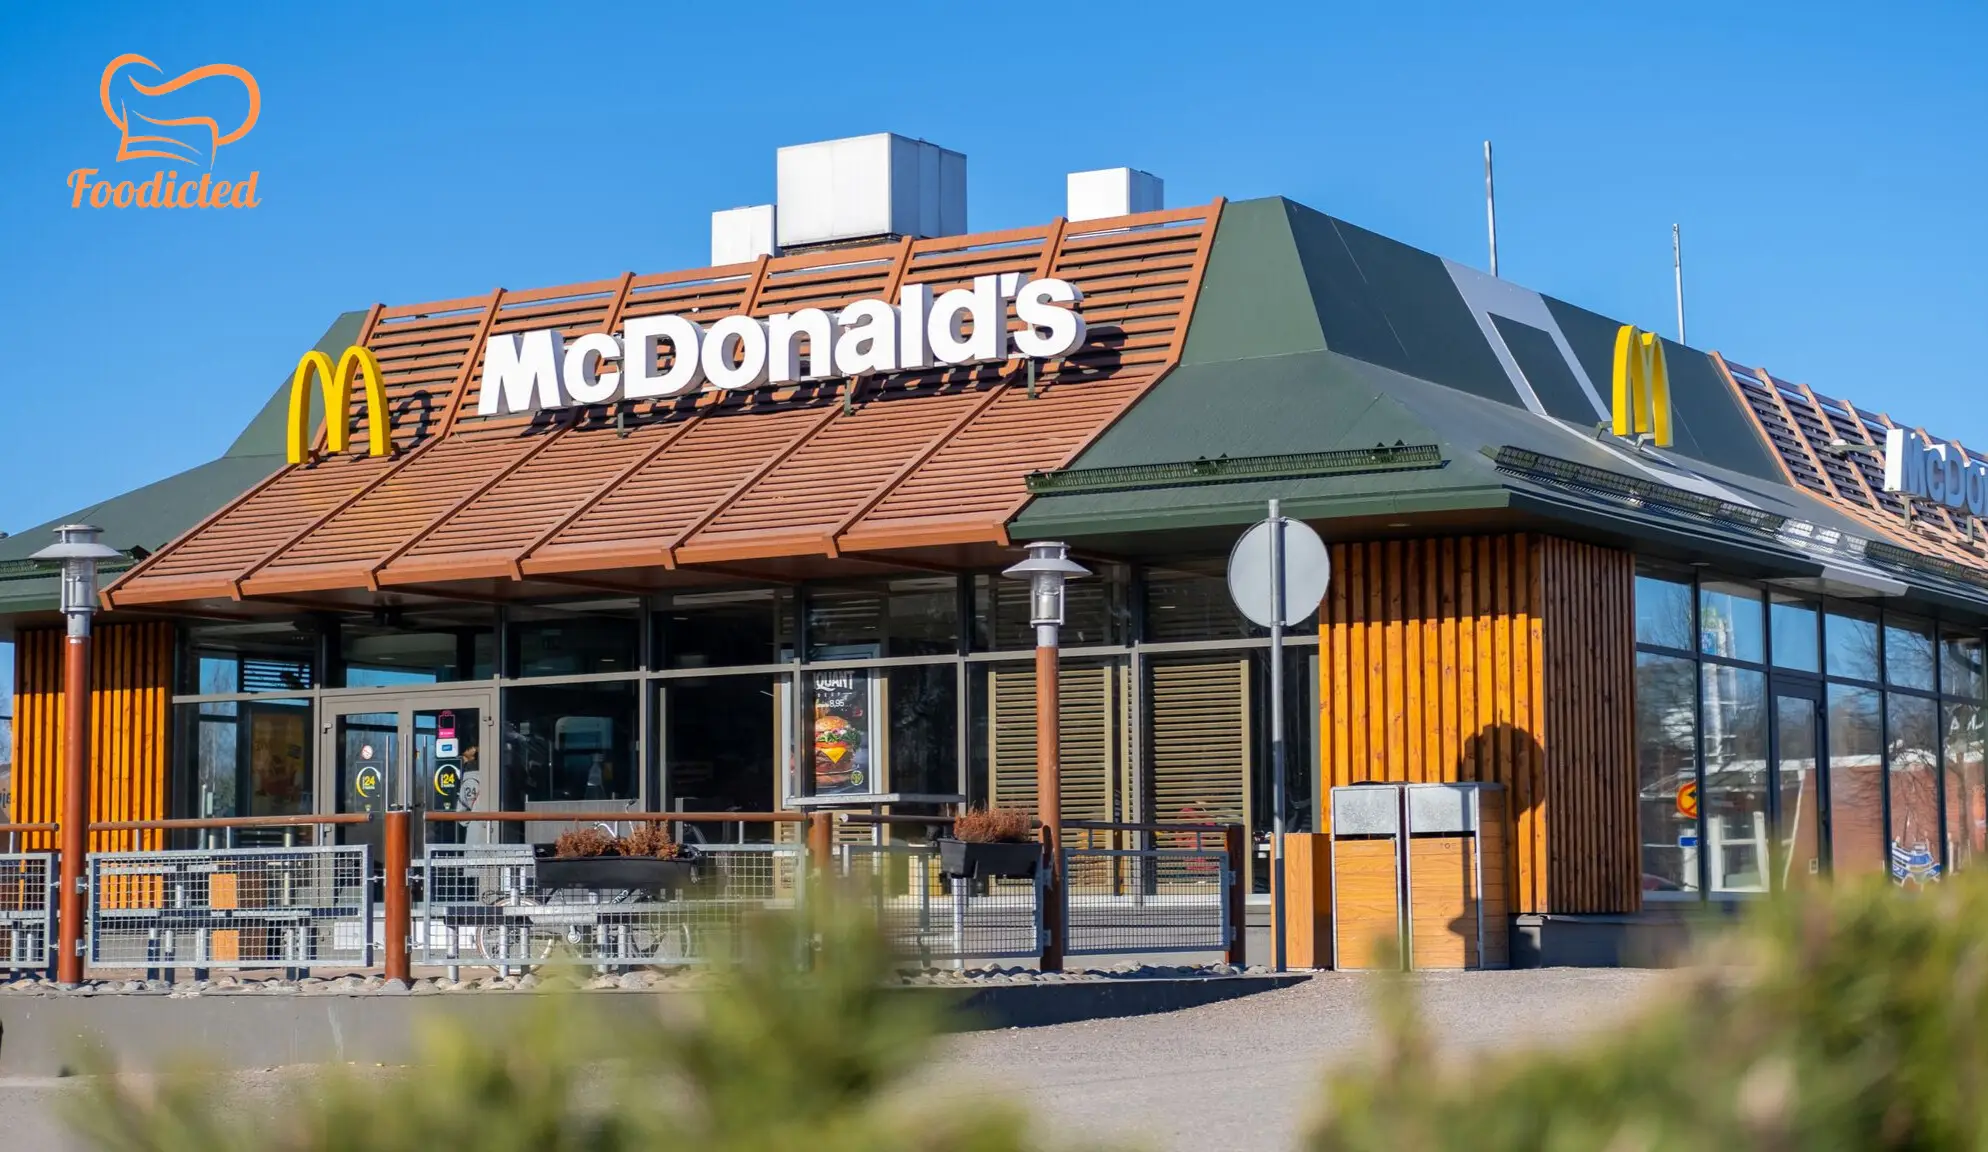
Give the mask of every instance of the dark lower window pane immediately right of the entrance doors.
<svg viewBox="0 0 1988 1152">
<path fill-rule="evenodd" d="M 598 812 L 640 796 L 636 684 L 539 684 L 503 692 L 507 810 Z"/>
</svg>

